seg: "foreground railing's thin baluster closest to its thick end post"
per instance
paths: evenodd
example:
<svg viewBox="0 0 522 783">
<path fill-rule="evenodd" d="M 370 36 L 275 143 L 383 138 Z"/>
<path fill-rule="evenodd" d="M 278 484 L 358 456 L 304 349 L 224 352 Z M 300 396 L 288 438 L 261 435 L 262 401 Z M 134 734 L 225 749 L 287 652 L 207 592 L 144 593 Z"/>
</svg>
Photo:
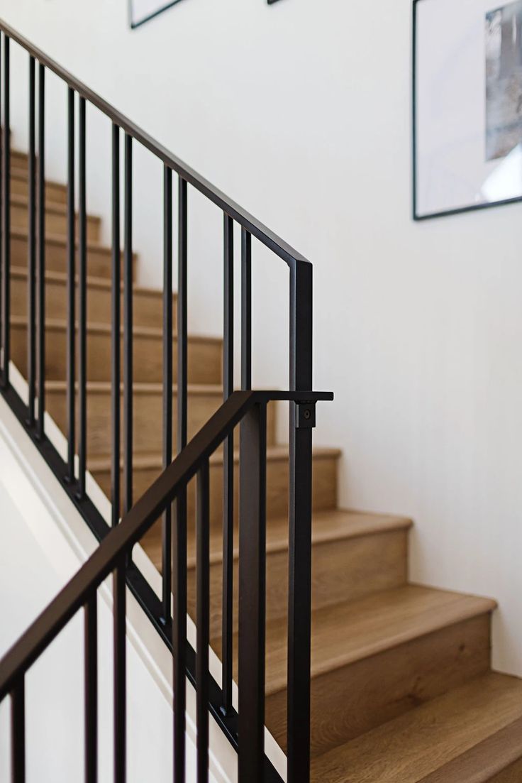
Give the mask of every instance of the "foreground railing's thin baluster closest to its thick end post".
<svg viewBox="0 0 522 783">
<path fill-rule="evenodd" d="M 209 466 L 197 474 L 196 521 L 196 713 L 197 783 L 208 781 L 208 645 L 210 635 Z"/>
</svg>

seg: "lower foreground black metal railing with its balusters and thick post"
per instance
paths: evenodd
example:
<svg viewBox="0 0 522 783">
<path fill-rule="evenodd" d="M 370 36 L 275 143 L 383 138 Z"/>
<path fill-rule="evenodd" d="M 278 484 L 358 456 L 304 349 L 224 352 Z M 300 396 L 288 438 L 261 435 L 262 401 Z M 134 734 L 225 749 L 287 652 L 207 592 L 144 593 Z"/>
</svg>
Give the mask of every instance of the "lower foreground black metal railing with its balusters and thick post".
<svg viewBox="0 0 522 783">
<path fill-rule="evenodd" d="M 333 399 L 314 391 L 234 391 L 214 416 L 201 428 L 142 498 L 106 536 L 94 554 L 58 596 L 27 629 L 0 661 L 0 702 L 12 698 L 13 781 L 24 780 L 25 710 L 24 679 L 28 669 L 58 636 L 74 615 L 85 610 L 85 780 L 96 780 L 97 738 L 97 610 L 96 592 L 113 574 L 113 749 L 114 780 L 125 780 L 126 746 L 126 658 L 125 658 L 125 571 L 132 547 L 142 539 L 178 496 L 184 496 L 196 476 L 196 573 L 197 654 L 196 687 L 197 780 L 208 780 L 209 705 L 214 717 L 221 708 L 211 698 L 217 685 L 209 673 L 209 460 L 218 446 L 231 438 L 241 424 L 240 510 L 239 510 L 239 640 L 236 716 L 238 775 L 240 783 L 261 783 L 275 779 L 265 759 L 265 539 L 266 539 L 266 406 L 274 400 L 290 400 L 297 408 L 297 429 L 311 431 L 315 403 Z M 173 547 L 175 554 L 175 547 Z M 186 581 L 186 564 L 182 565 Z M 173 584 L 175 588 L 175 584 Z M 179 640 L 187 646 L 186 631 Z M 174 651 L 175 652 L 175 651 Z M 292 662 L 289 660 L 291 668 Z M 185 670 L 177 676 L 179 660 L 173 655 L 174 711 L 180 734 L 175 734 L 175 769 L 185 780 Z M 303 684 L 304 685 L 304 684 Z M 294 725 L 299 723 L 296 716 Z M 289 715 L 290 725 L 290 715 Z M 267 776 L 268 771 L 268 776 Z M 176 774 L 176 773 L 175 773 Z"/>
</svg>

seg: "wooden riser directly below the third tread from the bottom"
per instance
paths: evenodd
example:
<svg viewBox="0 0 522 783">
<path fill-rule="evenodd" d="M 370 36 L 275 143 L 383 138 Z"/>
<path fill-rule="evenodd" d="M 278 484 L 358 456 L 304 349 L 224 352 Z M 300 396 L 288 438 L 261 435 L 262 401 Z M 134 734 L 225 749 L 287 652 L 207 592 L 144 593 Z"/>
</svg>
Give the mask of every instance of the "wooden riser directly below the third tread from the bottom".
<svg viewBox="0 0 522 783">
<path fill-rule="evenodd" d="M 269 521 L 268 521 L 269 525 Z M 407 531 L 336 539 L 312 547 L 312 609 L 348 598 L 398 587 L 407 572 Z M 237 535 L 236 535 L 237 545 Z M 160 569 L 160 561 L 157 559 Z M 234 562 L 234 633 L 238 619 L 238 561 Z M 211 565 L 211 639 L 221 635 L 222 565 Z M 189 614 L 196 618 L 196 569 L 189 568 Z M 288 550 L 267 553 L 266 616 L 270 621 L 285 617 L 288 609 Z M 219 644 L 217 644 L 219 648 Z"/>
</svg>

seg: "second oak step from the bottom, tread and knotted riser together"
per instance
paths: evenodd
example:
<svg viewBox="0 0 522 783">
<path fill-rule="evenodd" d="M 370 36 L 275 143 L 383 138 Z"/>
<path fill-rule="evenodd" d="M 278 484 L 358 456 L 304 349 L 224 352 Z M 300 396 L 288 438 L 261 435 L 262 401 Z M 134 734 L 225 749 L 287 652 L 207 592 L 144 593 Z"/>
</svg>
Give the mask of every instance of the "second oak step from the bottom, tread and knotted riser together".
<svg viewBox="0 0 522 783">
<path fill-rule="evenodd" d="M 488 671 L 495 605 L 407 585 L 313 612 L 312 756 Z M 285 620 L 266 633 L 266 725 L 284 749 Z"/>
</svg>

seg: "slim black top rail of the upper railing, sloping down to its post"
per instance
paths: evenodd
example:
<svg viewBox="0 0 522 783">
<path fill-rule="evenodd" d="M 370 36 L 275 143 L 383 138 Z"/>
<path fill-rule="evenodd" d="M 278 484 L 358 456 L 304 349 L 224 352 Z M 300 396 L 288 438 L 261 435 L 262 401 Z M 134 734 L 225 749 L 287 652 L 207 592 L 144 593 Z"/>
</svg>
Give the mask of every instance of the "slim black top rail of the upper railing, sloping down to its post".
<svg viewBox="0 0 522 783">
<path fill-rule="evenodd" d="M 52 70 L 53 73 L 62 78 L 63 81 L 66 81 L 70 88 L 73 88 L 89 103 L 92 103 L 92 105 L 96 106 L 103 114 L 106 114 L 113 123 L 117 124 L 124 132 L 128 133 L 136 139 L 136 141 L 145 146 L 147 150 L 156 155 L 160 161 L 173 169 L 173 171 L 176 171 L 178 175 L 186 180 L 186 182 L 189 182 L 196 190 L 203 193 L 203 196 L 206 196 L 214 202 L 222 211 L 239 223 L 239 226 L 243 226 L 252 236 L 255 236 L 257 240 L 260 240 L 272 252 L 279 255 L 279 258 L 282 258 L 284 262 L 290 266 L 310 263 L 307 258 L 304 258 L 304 256 L 301 255 L 301 253 L 298 253 L 290 244 L 286 243 L 280 236 L 277 236 L 277 234 L 268 229 L 267 226 L 257 220 L 257 218 L 254 218 L 254 215 L 250 215 L 243 207 L 240 207 L 239 204 L 236 204 L 235 201 L 226 196 L 225 193 L 212 185 L 211 182 L 198 174 L 197 171 L 189 165 L 185 164 L 180 158 L 171 153 L 170 150 L 167 150 L 166 147 L 155 141 L 152 136 L 142 130 L 142 128 L 139 128 L 139 126 L 129 120 L 128 117 L 121 114 L 121 112 L 115 109 L 108 101 L 89 89 L 83 82 L 75 78 L 44 52 L 41 52 L 40 49 L 31 44 L 31 41 L 27 41 L 26 38 L 23 38 L 22 35 L 17 33 L 16 30 L 13 30 L 13 27 L 9 27 L 9 24 L 6 24 L 2 19 L 0 19 L 0 30 L 13 41 L 16 41 L 23 49 L 26 49 L 26 51 L 29 52 L 35 60 L 38 60 L 41 65 L 49 68 L 49 70 Z"/>
</svg>

